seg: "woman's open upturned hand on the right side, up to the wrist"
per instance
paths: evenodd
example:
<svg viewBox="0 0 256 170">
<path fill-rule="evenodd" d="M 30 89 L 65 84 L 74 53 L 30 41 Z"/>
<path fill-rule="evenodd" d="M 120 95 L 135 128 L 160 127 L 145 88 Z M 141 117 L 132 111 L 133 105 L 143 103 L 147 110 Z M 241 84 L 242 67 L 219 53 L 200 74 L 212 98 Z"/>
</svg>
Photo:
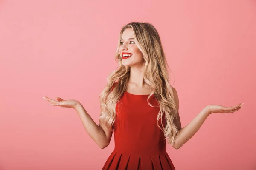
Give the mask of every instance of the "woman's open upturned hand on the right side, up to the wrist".
<svg viewBox="0 0 256 170">
<path fill-rule="evenodd" d="M 209 110 L 209 114 L 212 113 L 233 113 L 235 111 L 238 111 L 242 108 L 242 105 L 244 103 L 240 103 L 234 106 L 225 107 L 221 105 L 207 105 L 207 108 Z"/>
</svg>

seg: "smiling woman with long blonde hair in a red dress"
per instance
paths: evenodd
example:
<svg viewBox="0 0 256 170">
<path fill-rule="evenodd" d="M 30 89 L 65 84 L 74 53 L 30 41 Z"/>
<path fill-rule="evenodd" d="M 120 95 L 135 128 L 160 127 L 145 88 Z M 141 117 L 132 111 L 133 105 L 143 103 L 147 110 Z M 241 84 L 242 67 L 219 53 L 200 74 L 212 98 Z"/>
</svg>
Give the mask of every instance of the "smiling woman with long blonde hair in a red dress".
<svg viewBox="0 0 256 170">
<path fill-rule="evenodd" d="M 115 59 L 120 67 L 109 75 L 99 96 L 99 125 L 80 102 L 44 97 L 51 105 L 76 109 L 100 148 L 108 146 L 114 132 L 115 148 L 102 170 L 175 170 L 166 143 L 179 149 L 211 113 L 232 113 L 242 108 L 241 103 L 232 107 L 207 105 L 182 128 L 177 91 L 169 85 L 160 37 L 150 23 L 123 26 Z"/>
</svg>

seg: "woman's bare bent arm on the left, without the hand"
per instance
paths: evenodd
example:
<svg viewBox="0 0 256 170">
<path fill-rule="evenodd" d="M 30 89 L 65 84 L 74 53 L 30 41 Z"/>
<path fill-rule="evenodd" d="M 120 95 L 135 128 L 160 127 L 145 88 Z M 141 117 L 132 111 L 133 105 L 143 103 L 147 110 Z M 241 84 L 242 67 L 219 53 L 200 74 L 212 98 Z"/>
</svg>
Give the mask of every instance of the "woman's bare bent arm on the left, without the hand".
<svg viewBox="0 0 256 170">
<path fill-rule="evenodd" d="M 104 90 L 106 88 L 107 86 L 104 87 Z M 81 103 L 77 105 L 76 111 L 81 119 L 81 122 L 84 125 L 85 130 L 93 139 L 93 141 L 96 142 L 96 144 L 102 149 L 107 147 L 111 140 L 113 132 L 105 127 L 100 126 L 100 124 L 97 125 L 93 121 L 91 116 L 87 113 L 87 111 L 84 109 L 83 105 L 81 105 Z"/>
</svg>

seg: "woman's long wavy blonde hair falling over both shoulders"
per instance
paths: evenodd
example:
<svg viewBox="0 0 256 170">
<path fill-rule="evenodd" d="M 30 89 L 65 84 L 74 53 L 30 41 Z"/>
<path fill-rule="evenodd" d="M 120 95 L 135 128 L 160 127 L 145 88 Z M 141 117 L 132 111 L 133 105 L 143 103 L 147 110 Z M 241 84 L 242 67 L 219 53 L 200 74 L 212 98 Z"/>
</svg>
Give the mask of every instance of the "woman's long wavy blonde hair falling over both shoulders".
<svg viewBox="0 0 256 170">
<path fill-rule="evenodd" d="M 154 96 L 160 107 L 157 115 L 157 122 L 165 116 L 166 123 L 160 127 L 163 131 L 168 144 L 174 144 L 177 138 L 178 129 L 174 124 L 177 108 L 173 98 L 172 86 L 169 85 L 169 68 L 160 37 L 157 30 L 150 23 L 131 22 L 123 26 L 117 45 L 115 60 L 119 64 L 119 68 L 111 72 L 107 78 L 107 89 L 102 91 L 99 96 L 99 103 L 102 112 L 99 116 L 99 122 L 113 132 L 113 124 L 116 120 L 116 103 L 120 96 L 125 92 L 130 76 L 130 67 L 122 65 L 122 56 L 119 54 L 120 40 L 126 28 L 132 28 L 134 39 L 137 40 L 137 47 L 143 54 L 145 59 L 145 67 L 143 79 L 146 84 L 151 87 L 152 93 L 148 96 L 147 101 Z M 114 83 L 116 87 L 111 91 Z M 154 107 L 148 102 L 148 105 Z"/>
</svg>

